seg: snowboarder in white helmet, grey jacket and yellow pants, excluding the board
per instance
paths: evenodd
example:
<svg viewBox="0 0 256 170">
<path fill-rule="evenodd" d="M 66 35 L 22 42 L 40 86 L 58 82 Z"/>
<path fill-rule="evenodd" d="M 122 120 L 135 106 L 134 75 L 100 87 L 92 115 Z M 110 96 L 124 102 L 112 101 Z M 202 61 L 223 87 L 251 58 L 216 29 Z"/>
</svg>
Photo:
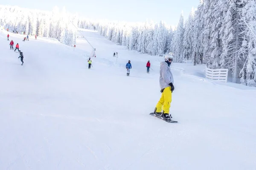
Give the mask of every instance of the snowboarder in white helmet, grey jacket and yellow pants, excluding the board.
<svg viewBox="0 0 256 170">
<path fill-rule="evenodd" d="M 172 63 L 173 56 L 171 54 L 166 54 L 164 59 L 165 61 L 161 62 L 159 78 L 162 95 L 156 105 L 154 114 L 161 115 L 163 119 L 171 119 L 172 116 L 169 114 L 169 110 L 172 102 L 172 91 L 174 91 L 174 81 L 170 64 Z"/>
</svg>

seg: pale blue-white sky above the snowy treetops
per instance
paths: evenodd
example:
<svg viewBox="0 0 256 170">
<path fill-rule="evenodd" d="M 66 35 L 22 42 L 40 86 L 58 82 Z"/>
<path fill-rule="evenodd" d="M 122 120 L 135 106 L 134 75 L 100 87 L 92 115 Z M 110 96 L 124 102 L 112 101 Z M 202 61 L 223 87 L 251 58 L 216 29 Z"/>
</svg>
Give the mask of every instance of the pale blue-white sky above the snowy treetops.
<svg viewBox="0 0 256 170">
<path fill-rule="evenodd" d="M 192 7 L 197 8 L 200 0 L 6 0 L 3 5 L 17 5 L 51 11 L 54 6 L 65 6 L 72 13 L 92 19 L 108 19 L 128 22 L 153 20 L 166 21 L 175 26 L 183 11 L 185 20 Z"/>
</svg>

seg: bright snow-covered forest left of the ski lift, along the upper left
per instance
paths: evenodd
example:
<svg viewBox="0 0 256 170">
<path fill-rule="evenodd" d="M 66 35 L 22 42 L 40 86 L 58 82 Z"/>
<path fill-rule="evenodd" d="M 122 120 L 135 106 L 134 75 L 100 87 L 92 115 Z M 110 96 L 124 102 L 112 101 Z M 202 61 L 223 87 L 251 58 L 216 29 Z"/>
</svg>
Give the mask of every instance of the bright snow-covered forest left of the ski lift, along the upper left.
<svg viewBox="0 0 256 170">
<path fill-rule="evenodd" d="M 67 14 L 65 9 L 52 12 L 30 10 L 17 6 L 0 5 L 0 26 L 31 36 L 55 38 L 60 42 L 73 46 L 76 44 L 76 28 L 73 22 L 78 22 L 77 16 Z"/>
</svg>

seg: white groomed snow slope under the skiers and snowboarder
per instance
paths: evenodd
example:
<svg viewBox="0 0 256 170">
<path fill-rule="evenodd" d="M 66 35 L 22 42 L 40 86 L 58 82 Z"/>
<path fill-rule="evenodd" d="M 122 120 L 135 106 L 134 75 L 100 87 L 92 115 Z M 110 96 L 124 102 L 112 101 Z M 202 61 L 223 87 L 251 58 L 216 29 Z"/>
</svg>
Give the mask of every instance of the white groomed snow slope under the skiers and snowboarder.
<svg viewBox="0 0 256 170">
<path fill-rule="evenodd" d="M 198 76 L 200 66 L 173 63 L 178 123 L 168 124 L 148 115 L 161 95 L 163 58 L 81 33 L 96 48 L 91 70 L 80 33 L 75 50 L 11 33 L 23 66 L 0 34 L 0 170 L 255 169 L 255 88 L 212 82 Z"/>
</svg>

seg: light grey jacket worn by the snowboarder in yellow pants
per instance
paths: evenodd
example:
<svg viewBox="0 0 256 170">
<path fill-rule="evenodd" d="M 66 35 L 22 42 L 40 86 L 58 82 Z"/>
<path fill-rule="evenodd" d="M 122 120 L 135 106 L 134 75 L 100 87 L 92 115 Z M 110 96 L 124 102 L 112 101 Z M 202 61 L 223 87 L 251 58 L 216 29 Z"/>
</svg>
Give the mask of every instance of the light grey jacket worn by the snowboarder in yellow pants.
<svg viewBox="0 0 256 170">
<path fill-rule="evenodd" d="M 169 87 L 169 83 L 172 84 L 174 83 L 173 81 L 173 76 L 172 76 L 172 71 L 169 65 L 166 62 L 161 62 L 160 66 L 160 77 L 159 77 L 159 83 L 160 83 L 160 88 L 167 88 Z"/>
</svg>

